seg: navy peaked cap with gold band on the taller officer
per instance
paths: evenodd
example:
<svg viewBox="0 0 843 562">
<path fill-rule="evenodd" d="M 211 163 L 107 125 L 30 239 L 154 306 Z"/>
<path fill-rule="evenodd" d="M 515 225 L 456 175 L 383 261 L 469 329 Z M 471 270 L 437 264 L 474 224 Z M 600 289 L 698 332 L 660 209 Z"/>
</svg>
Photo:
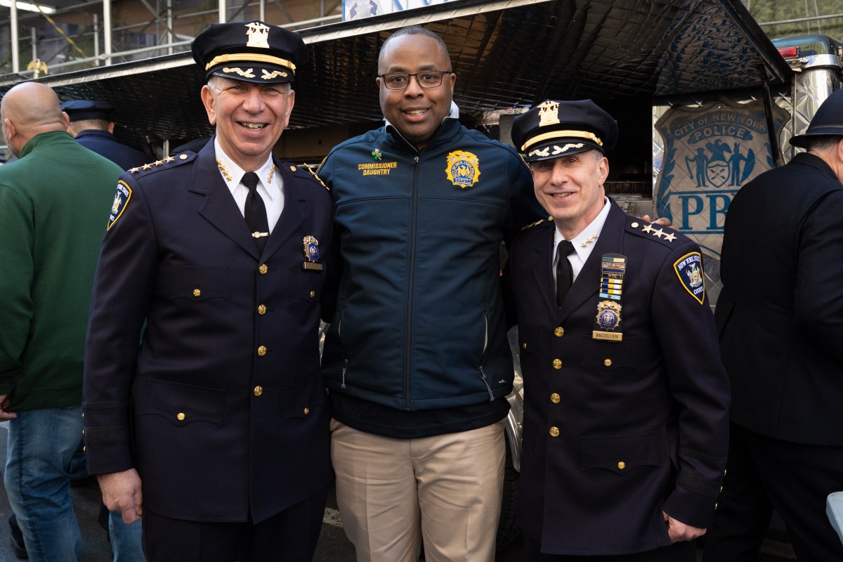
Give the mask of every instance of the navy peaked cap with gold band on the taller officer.
<svg viewBox="0 0 843 562">
<path fill-rule="evenodd" d="M 191 45 L 205 78 L 223 76 L 254 83 L 291 82 L 308 62 L 301 36 L 255 20 L 211 24 Z"/>
</svg>

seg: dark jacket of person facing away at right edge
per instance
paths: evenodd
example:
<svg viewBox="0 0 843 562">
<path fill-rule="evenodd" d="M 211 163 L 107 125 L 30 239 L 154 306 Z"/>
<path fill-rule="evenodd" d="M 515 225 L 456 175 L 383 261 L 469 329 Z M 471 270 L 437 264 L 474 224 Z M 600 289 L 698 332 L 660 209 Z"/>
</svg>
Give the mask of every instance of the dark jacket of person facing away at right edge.
<svg viewBox="0 0 843 562">
<path fill-rule="evenodd" d="M 840 181 L 807 153 L 729 206 L 716 317 L 739 426 L 843 445 L 841 210 Z"/>
</svg>

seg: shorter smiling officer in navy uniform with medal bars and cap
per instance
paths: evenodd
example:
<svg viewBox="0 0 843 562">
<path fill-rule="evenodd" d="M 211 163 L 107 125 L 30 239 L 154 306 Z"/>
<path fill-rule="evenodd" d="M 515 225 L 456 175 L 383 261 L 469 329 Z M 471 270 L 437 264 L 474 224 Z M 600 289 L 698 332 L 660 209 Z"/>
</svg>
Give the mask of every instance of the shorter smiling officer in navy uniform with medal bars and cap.
<svg viewBox="0 0 843 562">
<path fill-rule="evenodd" d="M 550 214 L 516 238 L 508 272 L 529 561 L 693 561 L 726 464 L 728 381 L 700 249 L 606 197 L 617 136 L 591 100 L 548 100 L 513 123 Z"/>
</svg>

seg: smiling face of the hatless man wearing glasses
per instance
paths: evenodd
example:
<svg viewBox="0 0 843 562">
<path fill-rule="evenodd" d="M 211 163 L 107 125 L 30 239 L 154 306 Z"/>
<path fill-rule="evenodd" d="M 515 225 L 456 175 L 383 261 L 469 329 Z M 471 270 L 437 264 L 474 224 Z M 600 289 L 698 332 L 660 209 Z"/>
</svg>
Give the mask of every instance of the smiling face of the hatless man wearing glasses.
<svg viewBox="0 0 843 562">
<path fill-rule="evenodd" d="M 426 70 L 451 70 L 448 53 L 443 51 L 437 40 L 427 35 L 401 35 L 384 44 L 378 61 L 378 74 L 415 74 Z M 421 88 L 418 80 L 411 77 L 405 89 L 390 90 L 384 86 L 382 78 L 377 78 L 380 109 L 401 136 L 421 150 L 451 110 L 456 79 L 453 73 L 445 74 L 441 85 Z"/>
</svg>

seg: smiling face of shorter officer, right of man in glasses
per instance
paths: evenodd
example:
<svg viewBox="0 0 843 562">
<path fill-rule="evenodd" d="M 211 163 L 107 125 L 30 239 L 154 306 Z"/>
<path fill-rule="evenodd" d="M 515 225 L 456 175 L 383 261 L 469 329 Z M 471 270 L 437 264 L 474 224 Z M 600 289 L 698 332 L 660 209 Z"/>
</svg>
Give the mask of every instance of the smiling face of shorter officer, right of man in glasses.
<svg viewBox="0 0 843 562">
<path fill-rule="evenodd" d="M 565 238 L 583 232 L 604 206 L 609 161 L 599 151 L 530 163 L 535 197 Z"/>
</svg>

